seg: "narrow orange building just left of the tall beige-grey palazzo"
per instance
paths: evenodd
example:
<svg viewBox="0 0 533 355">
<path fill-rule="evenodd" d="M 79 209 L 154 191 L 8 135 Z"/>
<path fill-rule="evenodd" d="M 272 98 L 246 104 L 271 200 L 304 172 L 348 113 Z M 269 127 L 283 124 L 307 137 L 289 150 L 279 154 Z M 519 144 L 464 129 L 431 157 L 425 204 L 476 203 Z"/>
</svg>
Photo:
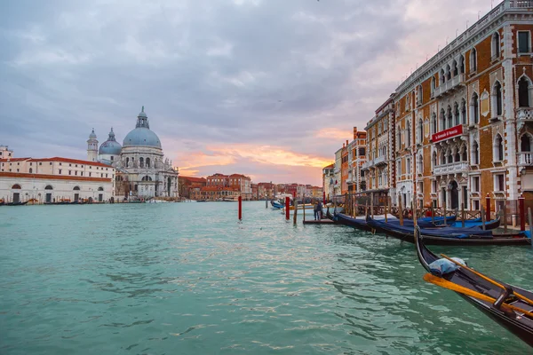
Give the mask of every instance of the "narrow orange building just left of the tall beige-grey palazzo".
<svg viewBox="0 0 533 355">
<path fill-rule="evenodd" d="M 366 190 L 363 164 L 366 162 L 366 139 L 365 131 L 354 127 L 354 139 L 348 144 L 348 177 L 346 184 L 349 193 L 360 193 Z"/>
</svg>

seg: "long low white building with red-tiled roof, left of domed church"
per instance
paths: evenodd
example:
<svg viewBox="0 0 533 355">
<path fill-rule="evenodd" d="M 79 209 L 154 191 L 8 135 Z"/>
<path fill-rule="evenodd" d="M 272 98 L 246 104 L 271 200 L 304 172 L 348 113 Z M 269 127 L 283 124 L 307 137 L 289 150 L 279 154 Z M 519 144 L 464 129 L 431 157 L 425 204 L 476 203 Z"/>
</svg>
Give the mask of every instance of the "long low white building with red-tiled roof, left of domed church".
<svg viewBox="0 0 533 355">
<path fill-rule="evenodd" d="M 101 162 L 61 157 L 15 158 L 3 146 L 0 158 L 0 200 L 110 201 L 115 193 L 115 168 Z"/>
</svg>

